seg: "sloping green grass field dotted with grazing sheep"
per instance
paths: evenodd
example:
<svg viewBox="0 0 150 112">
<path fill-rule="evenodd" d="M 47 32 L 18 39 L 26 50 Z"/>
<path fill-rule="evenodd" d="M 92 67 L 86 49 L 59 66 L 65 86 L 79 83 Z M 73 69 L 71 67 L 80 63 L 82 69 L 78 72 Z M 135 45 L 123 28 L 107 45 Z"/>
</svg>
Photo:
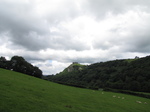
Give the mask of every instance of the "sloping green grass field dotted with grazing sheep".
<svg viewBox="0 0 150 112">
<path fill-rule="evenodd" d="M 0 69 L 0 112 L 150 112 L 150 99 L 75 88 Z"/>
</svg>

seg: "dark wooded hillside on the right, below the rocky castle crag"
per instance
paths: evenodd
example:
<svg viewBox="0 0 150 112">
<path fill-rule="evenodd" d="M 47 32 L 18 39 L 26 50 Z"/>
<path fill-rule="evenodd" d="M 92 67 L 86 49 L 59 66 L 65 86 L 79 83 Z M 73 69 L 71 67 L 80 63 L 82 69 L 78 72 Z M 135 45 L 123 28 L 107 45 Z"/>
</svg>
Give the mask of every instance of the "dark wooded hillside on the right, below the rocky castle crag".
<svg viewBox="0 0 150 112">
<path fill-rule="evenodd" d="M 150 92 L 150 56 L 95 63 L 83 70 L 47 76 L 47 80 L 71 86 Z"/>
</svg>

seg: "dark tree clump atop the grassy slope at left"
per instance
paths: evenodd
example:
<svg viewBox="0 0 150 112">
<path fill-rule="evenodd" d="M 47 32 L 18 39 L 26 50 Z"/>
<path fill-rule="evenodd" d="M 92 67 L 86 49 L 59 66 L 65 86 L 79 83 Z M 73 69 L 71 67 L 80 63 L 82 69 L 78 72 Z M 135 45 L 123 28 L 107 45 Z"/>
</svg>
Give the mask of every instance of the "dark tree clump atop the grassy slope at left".
<svg viewBox="0 0 150 112">
<path fill-rule="evenodd" d="M 42 71 L 38 67 L 28 63 L 21 56 L 13 56 L 11 60 L 6 60 L 5 57 L 0 57 L 0 68 L 13 70 L 38 78 L 42 78 L 43 76 Z"/>
</svg>

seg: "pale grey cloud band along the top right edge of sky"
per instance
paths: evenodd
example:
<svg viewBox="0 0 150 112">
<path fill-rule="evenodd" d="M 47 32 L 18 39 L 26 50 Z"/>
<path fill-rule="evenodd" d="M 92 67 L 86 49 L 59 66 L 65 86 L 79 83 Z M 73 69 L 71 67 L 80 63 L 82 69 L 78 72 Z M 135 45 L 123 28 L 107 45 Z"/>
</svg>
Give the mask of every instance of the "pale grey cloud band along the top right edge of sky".
<svg viewBox="0 0 150 112">
<path fill-rule="evenodd" d="M 109 12 L 121 14 L 137 9 L 150 12 L 149 4 L 149 0 L 87 0 L 84 7 L 87 9 L 86 12 L 97 18 L 105 18 Z"/>
</svg>

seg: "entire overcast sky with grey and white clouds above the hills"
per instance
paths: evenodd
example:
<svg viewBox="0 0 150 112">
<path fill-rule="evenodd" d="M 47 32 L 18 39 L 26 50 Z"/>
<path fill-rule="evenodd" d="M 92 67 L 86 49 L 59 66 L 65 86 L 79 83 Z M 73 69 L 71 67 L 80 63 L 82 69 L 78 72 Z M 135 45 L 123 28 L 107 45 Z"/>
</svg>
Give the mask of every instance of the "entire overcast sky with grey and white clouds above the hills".
<svg viewBox="0 0 150 112">
<path fill-rule="evenodd" d="M 150 54 L 150 0 L 0 0 L 0 56 L 44 75 Z"/>
</svg>

